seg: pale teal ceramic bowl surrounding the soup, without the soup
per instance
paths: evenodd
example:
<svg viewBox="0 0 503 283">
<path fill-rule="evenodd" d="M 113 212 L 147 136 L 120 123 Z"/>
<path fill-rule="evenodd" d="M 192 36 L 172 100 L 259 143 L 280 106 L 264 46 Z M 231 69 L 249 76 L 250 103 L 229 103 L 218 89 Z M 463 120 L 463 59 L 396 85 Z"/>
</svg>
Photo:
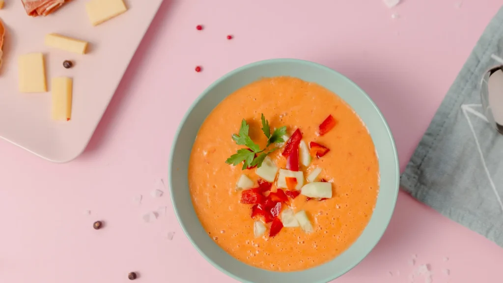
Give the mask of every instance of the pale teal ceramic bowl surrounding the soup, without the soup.
<svg viewBox="0 0 503 283">
<path fill-rule="evenodd" d="M 374 214 L 358 240 L 343 254 L 303 271 L 273 272 L 244 264 L 224 252 L 208 236 L 196 216 L 188 185 L 189 157 L 199 127 L 225 97 L 264 77 L 291 76 L 317 83 L 344 99 L 362 118 L 374 141 L 381 183 Z M 208 87 L 179 126 L 170 161 L 170 190 L 185 234 L 206 260 L 225 274 L 247 283 L 325 283 L 356 266 L 374 248 L 393 214 L 398 194 L 398 158 L 389 127 L 369 96 L 348 78 L 317 63 L 272 59 L 237 68 Z"/>
</svg>

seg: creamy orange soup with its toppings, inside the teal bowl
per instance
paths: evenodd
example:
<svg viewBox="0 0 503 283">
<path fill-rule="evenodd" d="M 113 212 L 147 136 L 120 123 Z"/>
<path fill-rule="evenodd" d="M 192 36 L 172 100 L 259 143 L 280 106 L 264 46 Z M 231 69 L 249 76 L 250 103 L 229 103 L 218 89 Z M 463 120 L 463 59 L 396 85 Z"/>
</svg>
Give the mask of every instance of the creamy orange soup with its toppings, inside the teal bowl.
<svg viewBox="0 0 503 283">
<path fill-rule="evenodd" d="M 379 167 L 367 128 L 340 97 L 300 79 L 265 78 L 206 118 L 189 187 L 223 250 L 259 268 L 295 271 L 357 240 L 377 201 Z"/>
</svg>

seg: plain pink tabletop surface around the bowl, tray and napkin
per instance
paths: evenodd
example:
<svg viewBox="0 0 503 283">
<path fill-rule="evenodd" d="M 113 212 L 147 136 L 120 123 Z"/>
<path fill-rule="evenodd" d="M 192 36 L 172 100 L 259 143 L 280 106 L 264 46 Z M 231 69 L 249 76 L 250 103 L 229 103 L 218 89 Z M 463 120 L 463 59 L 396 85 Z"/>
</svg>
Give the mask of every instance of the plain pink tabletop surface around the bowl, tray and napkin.
<svg viewBox="0 0 503 283">
<path fill-rule="evenodd" d="M 235 282 L 191 246 L 167 190 L 149 195 L 156 179 L 167 179 L 175 129 L 194 99 L 249 62 L 293 57 L 328 65 L 381 108 L 403 169 L 500 5 L 404 0 L 389 10 L 380 0 L 165 0 L 81 157 L 51 164 L 0 141 L 0 281 L 128 282 L 134 270 L 144 283 Z M 141 216 L 161 205 L 166 216 L 144 223 Z M 94 230 L 95 220 L 106 227 Z M 422 263 L 431 264 L 435 283 L 496 282 L 503 249 L 401 192 L 380 243 L 336 281 L 408 282 Z"/>
</svg>

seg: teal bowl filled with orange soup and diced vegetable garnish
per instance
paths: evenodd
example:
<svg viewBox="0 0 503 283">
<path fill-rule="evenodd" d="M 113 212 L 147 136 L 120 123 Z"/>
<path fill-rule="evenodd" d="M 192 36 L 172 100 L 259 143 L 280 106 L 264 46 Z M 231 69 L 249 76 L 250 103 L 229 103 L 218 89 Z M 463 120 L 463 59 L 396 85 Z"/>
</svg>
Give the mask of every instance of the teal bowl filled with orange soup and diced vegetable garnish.
<svg viewBox="0 0 503 283">
<path fill-rule="evenodd" d="M 383 235 L 398 159 L 379 109 L 317 63 L 272 59 L 233 70 L 180 124 L 171 197 L 192 244 L 242 282 L 324 283 Z"/>
</svg>

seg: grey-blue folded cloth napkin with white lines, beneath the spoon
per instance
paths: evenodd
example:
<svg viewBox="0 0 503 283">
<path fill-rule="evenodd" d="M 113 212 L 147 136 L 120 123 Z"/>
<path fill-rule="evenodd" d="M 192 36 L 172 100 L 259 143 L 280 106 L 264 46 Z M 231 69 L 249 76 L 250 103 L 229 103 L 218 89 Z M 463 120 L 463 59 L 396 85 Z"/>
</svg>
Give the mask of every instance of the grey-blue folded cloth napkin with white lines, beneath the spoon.
<svg viewBox="0 0 503 283">
<path fill-rule="evenodd" d="M 483 115 L 480 82 L 503 55 L 503 8 L 491 20 L 401 176 L 441 214 L 503 247 L 503 135 Z"/>
</svg>

